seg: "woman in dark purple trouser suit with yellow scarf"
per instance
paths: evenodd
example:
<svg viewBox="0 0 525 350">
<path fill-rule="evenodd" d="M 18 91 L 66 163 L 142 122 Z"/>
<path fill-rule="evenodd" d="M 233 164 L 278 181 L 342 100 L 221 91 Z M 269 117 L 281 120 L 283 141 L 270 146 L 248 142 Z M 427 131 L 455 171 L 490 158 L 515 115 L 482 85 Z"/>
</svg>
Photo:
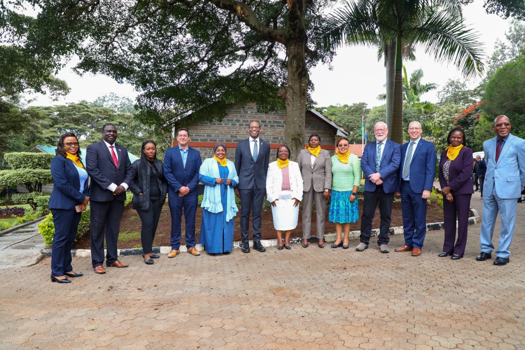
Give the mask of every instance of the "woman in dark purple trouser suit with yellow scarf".
<svg viewBox="0 0 525 350">
<path fill-rule="evenodd" d="M 450 255 L 452 260 L 463 258 L 467 244 L 470 198 L 474 189 L 470 180 L 472 150 L 465 147 L 465 132 L 455 128 L 448 133 L 448 146 L 439 161 L 439 184 L 443 190 L 445 242 L 439 257 Z M 458 238 L 456 239 L 456 217 Z"/>
</svg>

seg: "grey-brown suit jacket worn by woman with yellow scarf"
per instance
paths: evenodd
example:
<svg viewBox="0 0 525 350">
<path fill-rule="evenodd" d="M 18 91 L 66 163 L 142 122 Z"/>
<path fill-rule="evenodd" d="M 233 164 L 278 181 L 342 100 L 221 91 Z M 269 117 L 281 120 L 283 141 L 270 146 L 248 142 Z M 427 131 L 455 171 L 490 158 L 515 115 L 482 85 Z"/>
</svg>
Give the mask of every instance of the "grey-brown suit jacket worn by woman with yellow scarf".
<svg viewBox="0 0 525 350">
<path fill-rule="evenodd" d="M 332 188 L 332 160 L 327 150 L 321 150 L 312 164 L 311 154 L 307 149 L 301 150 L 297 156 L 297 164 L 301 169 L 304 192 L 308 192 L 313 185 L 315 192 L 323 192 L 325 188 Z"/>
</svg>

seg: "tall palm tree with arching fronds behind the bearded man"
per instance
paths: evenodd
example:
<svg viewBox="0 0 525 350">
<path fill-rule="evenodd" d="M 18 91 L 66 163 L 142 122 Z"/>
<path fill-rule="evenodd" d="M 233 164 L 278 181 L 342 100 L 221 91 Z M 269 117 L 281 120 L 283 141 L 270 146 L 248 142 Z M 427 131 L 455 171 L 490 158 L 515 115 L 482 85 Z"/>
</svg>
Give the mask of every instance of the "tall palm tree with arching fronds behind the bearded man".
<svg viewBox="0 0 525 350">
<path fill-rule="evenodd" d="M 387 97 L 393 96 L 388 126 L 395 142 L 403 142 L 403 45 L 421 46 L 437 61 L 453 62 L 465 77 L 482 71 L 477 35 L 466 28 L 454 6 L 452 0 L 362 0 L 347 3 L 327 19 L 327 47 L 395 43 L 394 87 L 386 91 Z"/>
</svg>

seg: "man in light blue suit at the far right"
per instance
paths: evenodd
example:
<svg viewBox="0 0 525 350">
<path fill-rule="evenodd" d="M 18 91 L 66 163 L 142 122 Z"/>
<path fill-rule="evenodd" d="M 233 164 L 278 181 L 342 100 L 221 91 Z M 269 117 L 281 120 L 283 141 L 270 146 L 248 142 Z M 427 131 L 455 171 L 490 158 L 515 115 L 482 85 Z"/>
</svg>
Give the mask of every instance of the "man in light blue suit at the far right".
<svg viewBox="0 0 525 350">
<path fill-rule="evenodd" d="M 505 115 L 494 120 L 496 137 L 483 143 L 487 172 L 483 183 L 483 213 L 480 232 L 481 253 L 478 261 L 492 258 L 492 235 L 498 211 L 501 218 L 499 245 L 495 265 L 506 265 L 514 235 L 517 199 L 525 186 L 525 140 L 510 134 L 511 124 Z"/>
</svg>

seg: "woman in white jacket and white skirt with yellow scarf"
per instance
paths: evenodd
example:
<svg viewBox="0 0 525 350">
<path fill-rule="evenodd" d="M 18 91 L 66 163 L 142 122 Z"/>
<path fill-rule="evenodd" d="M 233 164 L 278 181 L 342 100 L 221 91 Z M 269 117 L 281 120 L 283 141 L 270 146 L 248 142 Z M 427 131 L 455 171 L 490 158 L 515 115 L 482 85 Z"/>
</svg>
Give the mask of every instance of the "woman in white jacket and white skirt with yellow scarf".
<svg viewBox="0 0 525 350">
<path fill-rule="evenodd" d="M 266 198 L 271 204 L 274 227 L 277 231 L 277 249 L 291 249 L 290 236 L 297 227 L 299 202 L 302 200 L 302 177 L 299 165 L 290 161 L 290 149 L 282 145 L 277 150 L 277 161 L 268 166 Z M 285 231 L 285 241 L 282 241 Z"/>
</svg>

